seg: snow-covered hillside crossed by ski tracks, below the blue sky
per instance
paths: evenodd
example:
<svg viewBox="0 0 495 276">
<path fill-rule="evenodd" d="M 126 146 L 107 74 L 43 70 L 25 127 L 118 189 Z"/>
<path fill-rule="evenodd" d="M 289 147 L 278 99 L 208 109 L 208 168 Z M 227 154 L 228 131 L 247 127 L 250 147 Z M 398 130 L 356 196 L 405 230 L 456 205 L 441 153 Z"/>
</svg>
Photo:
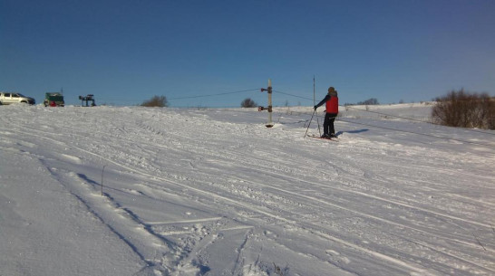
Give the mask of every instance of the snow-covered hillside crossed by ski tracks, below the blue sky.
<svg viewBox="0 0 495 276">
<path fill-rule="evenodd" d="M 0 106 L 0 275 L 495 275 L 495 131 L 431 107 L 330 141 L 311 108 Z"/>
</svg>

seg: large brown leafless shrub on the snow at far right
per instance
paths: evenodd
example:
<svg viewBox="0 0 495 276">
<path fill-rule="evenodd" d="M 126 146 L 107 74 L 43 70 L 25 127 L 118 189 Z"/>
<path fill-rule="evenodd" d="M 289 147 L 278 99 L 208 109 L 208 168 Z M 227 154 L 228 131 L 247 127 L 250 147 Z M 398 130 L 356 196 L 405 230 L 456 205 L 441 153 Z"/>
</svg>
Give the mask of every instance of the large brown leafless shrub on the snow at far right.
<svg viewBox="0 0 495 276">
<path fill-rule="evenodd" d="M 487 93 L 451 90 L 436 99 L 433 122 L 456 128 L 495 129 L 495 101 Z"/>
</svg>

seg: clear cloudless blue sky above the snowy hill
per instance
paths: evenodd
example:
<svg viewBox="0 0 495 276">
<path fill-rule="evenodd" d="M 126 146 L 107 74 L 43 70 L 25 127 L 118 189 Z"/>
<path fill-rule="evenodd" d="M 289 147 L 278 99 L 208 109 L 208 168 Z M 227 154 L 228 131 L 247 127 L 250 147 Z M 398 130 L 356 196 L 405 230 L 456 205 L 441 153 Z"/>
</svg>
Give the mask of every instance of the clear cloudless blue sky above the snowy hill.
<svg viewBox="0 0 495 276">
<path fill-rule="evenodd" d="M 312 105 L 313 76 L 341 103 L 495 95 L 495 1 L 0 0 L 0 90 L 37 102 L 266 105 L 271 79 L 275 105 Z"/>
</svg>

